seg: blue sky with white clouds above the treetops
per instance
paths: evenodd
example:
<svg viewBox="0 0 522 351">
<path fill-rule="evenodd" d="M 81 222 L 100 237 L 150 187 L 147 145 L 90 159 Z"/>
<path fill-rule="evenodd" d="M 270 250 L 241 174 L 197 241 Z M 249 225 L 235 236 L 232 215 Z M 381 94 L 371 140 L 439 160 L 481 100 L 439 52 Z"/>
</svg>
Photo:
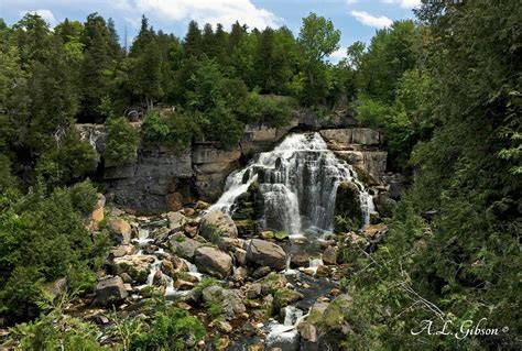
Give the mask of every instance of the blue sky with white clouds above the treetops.
<svg viewBox="0 0 522 351">
<path fill-rule="evenodd" d="M 412 9 L 421 0 L 0 0 L 0 18 L 8 24 L 26 12 L 36 12 L 51 26 L 69 20 L 85 21 L 98 12 L 112 18 L 121 41 L 127 30 L 128 42 L 138 33 L 142 14 L 155 30 L 183 37 L 191 20 L 222 23 L 229 29 L 238 20 L 249 28 L 286 25 L 297 35 L 302 19 L 315 12 L 330 19 L 341 31 L 340 48 L 330 55 L 336 62 L 356 41 L 369 43 L 376 30 L 395 20 L 413 19 Z"/>
</svg>

